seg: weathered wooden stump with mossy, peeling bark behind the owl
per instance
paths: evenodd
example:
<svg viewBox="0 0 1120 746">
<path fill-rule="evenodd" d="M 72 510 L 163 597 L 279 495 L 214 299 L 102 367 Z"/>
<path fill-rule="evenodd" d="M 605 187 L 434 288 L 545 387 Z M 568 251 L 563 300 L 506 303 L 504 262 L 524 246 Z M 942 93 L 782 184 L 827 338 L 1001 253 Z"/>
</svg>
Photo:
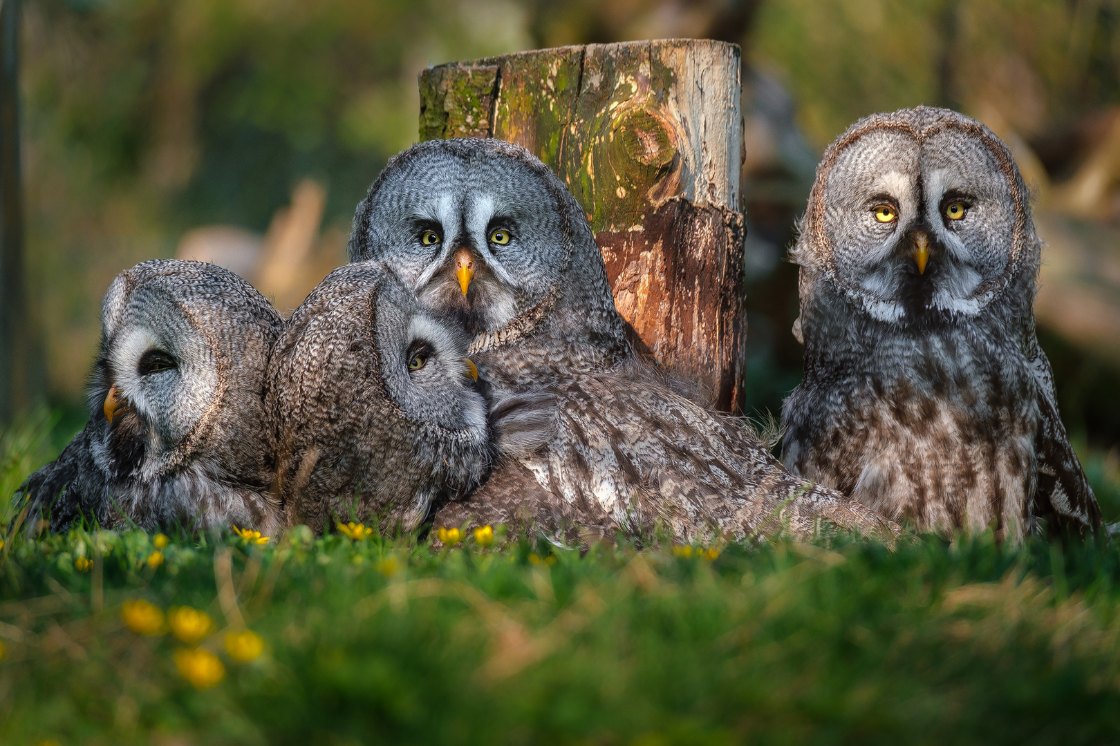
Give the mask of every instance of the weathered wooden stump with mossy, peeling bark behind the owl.
<svg viewBox="0 0 1120 746">
<path fill-rule="evenodd" d="M 420 139 L 530 150 L 582 206 L 635 347 L 743 407 L 739 47 L 591 44 L 420 74 Z"/>
</svg>

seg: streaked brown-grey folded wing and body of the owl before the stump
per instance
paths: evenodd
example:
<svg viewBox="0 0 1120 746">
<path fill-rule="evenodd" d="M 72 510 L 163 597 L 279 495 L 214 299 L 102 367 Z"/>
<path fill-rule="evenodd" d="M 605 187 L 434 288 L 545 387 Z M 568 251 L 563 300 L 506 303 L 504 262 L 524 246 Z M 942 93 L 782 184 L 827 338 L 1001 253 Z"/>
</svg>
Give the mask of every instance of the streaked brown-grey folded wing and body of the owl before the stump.
<svg viewBox="0 0 1120 746">
<path fill-rule="evenodd" d="M 844 495 L 790 474 L 739 417 L 710 412 L 634 362 L 550 387 L 548 447 L 511 459 L 437 526 L 534 525 L 560 544 L 616 533 L 707 544 L 818 533 L 822 519 L 889 535 L 897 526 Z"/>
</svg>

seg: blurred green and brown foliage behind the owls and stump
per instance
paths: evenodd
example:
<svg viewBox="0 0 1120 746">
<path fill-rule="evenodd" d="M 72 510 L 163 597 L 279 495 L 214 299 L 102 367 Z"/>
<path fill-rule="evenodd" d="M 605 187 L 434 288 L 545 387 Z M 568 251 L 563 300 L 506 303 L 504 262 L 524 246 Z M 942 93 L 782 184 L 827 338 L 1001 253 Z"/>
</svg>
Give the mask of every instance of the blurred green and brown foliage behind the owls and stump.
<svg viewBox="0 0 1120 746">
<path fill-rule="evenodd" d="M 1112 0 L 27 0 L 22 31 L 30 311 L 49 399 L 75 412 L 115 273 L 174 255 L 198 226 L 262 234 L 307 178 L 326 193 L 323 230 L 344 238 L 417 139 L 430 64 L 657 37 L 743 45 L 748 389 L 773 412 L 800 377 L 781 257 L 832 138 L 875 111 L 952 106 L 1008 140 L 1040 209 L 1068 207 L 1049 195 L 1120 104 Z M 1113 257 L 1117 180 L 1092 210 L 1063 213 L 1102 226 L 1096 249 Z M 1120 304 L 1120 280 L 1108 292 Z M 1120 358 L 1045 334 L 1067 423 L 1120 474 Z"/>
</svg>

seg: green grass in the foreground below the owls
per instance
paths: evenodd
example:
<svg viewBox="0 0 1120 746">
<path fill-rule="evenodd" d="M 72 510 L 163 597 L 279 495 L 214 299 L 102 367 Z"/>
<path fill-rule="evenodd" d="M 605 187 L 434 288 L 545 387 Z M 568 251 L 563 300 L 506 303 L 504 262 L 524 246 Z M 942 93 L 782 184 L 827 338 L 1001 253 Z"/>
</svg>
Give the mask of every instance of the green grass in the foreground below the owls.
<svg viewBox="0 0 1120 746">
<path fill-rule="evenodd" d="M 141 531 L 9 537 L 0 743 L 1101 744 L 1120 733 L 1120 551 L 1107 542 L 926 538 L 889 550 L 833 538 L 732 545 L 710 560 L 668 547 L 580 557 L 524 539 L 433 553 L 408 537 L 296 529 L 268 546 L 172 537 L 157 567 L 155 550 Z M 214 620 L 200 644 L 223 662 L 216 686 L 184 678 L 174 634 L 125 625 L 122 604 L 137 598 Z M 265 643 L 244 663 L 224 646 L 241 623 Z"/>
</svg>

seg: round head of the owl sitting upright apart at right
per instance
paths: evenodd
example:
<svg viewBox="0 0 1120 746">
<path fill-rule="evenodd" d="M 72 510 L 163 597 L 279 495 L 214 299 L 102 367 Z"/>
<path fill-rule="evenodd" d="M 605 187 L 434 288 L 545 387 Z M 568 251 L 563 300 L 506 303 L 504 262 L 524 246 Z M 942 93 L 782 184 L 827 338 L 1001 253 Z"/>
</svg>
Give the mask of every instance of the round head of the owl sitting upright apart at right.
<svg viewBox="0 0 1120 746">
<path fill-rule="evenodd" d="M 926 106 L 875 114 L 825 151 L 793 257 L 803 282 L 878 321 L 971 317 L 1034 281 L 1027 200 L 1010 151 L 980 122 Z"/>
</svg>

